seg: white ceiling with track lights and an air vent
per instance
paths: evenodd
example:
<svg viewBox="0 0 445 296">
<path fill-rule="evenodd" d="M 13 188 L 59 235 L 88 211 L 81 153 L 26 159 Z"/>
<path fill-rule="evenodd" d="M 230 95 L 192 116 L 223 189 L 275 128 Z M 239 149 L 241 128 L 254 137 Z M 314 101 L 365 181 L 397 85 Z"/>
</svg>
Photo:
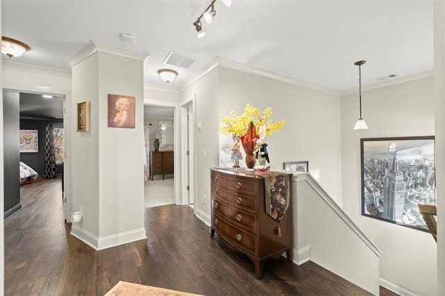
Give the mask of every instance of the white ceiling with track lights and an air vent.
<svg viewBox="0 0 445 296">
<path fill-rule="evenodd" d="M 432 1 L 428 0 L 233 0 L 215 3 L 207 35 L 197 39 L 193 21 L 210 0 L 3 0 L 3 36 L 31 46 L 24 64 L 67 69 L 66 58 L 90 40 L 149 54 L 145 83 L 181 89 L 216 57 L 234 60 L 337 91 L 375 78 L 431 71 Z M 120 40 L 136 37 L 136 44 Z M 170 51 L 196 58 L 167 85 L 156 71 Z"/>
</svg>

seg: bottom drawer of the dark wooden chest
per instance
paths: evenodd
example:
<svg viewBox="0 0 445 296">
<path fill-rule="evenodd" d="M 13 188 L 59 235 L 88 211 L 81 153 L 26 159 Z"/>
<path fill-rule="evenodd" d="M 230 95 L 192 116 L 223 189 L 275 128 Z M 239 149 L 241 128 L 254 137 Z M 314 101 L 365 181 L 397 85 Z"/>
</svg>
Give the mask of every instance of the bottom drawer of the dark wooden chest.
<svg viewBox="0 0 445 296">
<path fill-rule="evenodd" d="M 257 238 L 253 234 L 227 223 L 217 212 L 213 213 L 212 225 L 216 232 L 227 241 L 249 254 L 257 255 Z"/>
</svg>

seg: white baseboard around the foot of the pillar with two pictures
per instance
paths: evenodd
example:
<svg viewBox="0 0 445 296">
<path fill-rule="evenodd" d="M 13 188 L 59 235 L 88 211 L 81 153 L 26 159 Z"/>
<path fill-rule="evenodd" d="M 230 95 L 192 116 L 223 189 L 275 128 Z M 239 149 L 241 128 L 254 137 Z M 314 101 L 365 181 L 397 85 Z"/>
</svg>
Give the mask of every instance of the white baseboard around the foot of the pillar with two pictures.
<svg viewBox="0 0 445 296">
<path fill-rule="evenodd" d="M 83 241 L 83 243 L 86 243 L 96 251 L 147 238 L 145 228 L 134 229 L 129 232 L 120 232 L 119 234 L 112 234 L 99 238 L 98 236 L 95 236 L 91 232 L 88 232 L 74 223 L 71 227 L 71 235 L 75 238 L 79 238 L 79 240 Z"/>
</svg>

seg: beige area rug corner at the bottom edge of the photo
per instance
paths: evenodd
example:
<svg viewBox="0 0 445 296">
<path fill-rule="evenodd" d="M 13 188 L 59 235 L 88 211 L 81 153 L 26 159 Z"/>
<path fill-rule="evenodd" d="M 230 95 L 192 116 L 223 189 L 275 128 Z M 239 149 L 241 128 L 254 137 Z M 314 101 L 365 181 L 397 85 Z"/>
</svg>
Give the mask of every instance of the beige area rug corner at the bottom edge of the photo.
<svg viewBox="0 0 445 296">
<path fill-rule="evenodd" d="M 140 284 L 119 281 L 116 286 L 111 288 L 105 296 L 138 296 L 138 295 L 156 295 L 156 296 L 202 296 L 197 294 L 185 293 L 175 290 L 168 290 L 153 286 L 144 286 Z"/>
</svg>

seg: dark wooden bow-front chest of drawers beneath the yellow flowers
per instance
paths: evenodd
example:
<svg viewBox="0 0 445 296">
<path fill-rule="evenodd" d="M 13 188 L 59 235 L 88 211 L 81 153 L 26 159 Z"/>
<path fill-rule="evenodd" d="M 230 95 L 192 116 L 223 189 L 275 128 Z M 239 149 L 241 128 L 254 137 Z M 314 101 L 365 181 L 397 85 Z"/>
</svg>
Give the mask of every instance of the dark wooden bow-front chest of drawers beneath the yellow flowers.
<svg viewBox="0 0 445 296">
<path fill-rule="evenodd" d="M 249 256 L 257 279 L 267 259 L 286 252 L 291 261 L 293 241 L 291 205 L 280 221 L 279 236 L 277 221 L 265 211 L 264 184 L 262 175 L 211 168 L 211 237 L 216 232 L 232 250 Z"/>
</svg>

